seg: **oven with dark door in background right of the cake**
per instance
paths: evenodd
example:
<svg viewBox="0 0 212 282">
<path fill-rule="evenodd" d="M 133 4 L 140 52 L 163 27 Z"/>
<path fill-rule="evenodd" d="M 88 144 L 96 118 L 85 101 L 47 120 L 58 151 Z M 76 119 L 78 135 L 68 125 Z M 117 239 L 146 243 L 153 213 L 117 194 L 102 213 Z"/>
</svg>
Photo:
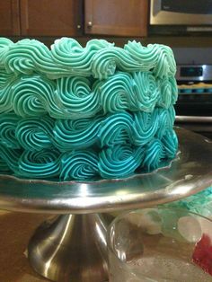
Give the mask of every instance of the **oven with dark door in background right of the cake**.
<svg viewBox="0 0 212 282">
<path fill-rule="evenodd" d="M 178 65 L 176 125 L 212 139 L 212 65 Z"/>
</svg>

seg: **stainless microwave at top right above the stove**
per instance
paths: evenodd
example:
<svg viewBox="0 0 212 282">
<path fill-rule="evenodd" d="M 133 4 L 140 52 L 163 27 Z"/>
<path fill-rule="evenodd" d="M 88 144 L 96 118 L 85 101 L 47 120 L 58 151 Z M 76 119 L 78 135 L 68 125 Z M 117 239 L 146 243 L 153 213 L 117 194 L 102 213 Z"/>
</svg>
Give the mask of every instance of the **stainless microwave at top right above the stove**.
<svg viewBox="0 0 212 282">
<path fill-rule="evenodd" d="M 150 0 L 150 31 L 212 31 L 212 1 Z"/>
</svg>

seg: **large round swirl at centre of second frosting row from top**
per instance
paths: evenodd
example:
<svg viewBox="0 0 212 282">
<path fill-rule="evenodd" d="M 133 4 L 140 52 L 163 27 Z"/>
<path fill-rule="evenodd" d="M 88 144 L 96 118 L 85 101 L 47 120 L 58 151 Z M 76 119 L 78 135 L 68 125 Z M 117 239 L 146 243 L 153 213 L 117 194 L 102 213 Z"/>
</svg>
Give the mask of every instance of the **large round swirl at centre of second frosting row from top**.
<svg viewBox="0 0 212 282">
<path fill-rule="evenodd" d="M 80 119 L 94 116 L 101 110 L 98 92 L 85 77 L 63 77 L 57 80 L 55 93 L 57 106 L 63 114 L 52 112 L 51 116 L 60 119 Z"/>
</svg>

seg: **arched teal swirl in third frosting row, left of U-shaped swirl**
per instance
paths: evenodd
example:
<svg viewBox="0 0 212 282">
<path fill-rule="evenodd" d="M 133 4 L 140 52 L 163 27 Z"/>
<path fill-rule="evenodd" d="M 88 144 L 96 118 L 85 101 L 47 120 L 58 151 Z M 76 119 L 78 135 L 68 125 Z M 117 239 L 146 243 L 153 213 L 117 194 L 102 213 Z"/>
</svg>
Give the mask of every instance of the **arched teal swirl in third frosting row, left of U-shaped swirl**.
<svg viewBox="0 0 212 282">
<path fill-rule="evenodd" d="M 98 136 L 101 147 L 133 143 L 133 119 L 128 112 L 121 112 L 102 120 Z"/>
</svg>

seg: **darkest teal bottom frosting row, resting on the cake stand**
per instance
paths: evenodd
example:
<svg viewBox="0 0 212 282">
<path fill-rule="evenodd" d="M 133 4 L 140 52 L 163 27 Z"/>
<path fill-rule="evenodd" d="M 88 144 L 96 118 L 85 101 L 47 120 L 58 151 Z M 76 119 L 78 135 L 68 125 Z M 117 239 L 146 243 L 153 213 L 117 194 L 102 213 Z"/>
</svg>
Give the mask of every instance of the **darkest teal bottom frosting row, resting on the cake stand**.
<svg viewBox="0 0 212 282">
<path fill-rule="evenodd" d="M 177 138 L 172 129 L 162 140 L 153 138 L 143 146 L 130 144 L 104 147 L 100 151 L 75 149 L 60 153 L 56 148 L 40 151 L 0 147 L 0 168 L 27 178 L 57 178 L 61 181 L 91 180 L 96 177 L 121 178 L 140 172 L 151 172 L 164 159 L 177 152 Z"/>
</svg>

